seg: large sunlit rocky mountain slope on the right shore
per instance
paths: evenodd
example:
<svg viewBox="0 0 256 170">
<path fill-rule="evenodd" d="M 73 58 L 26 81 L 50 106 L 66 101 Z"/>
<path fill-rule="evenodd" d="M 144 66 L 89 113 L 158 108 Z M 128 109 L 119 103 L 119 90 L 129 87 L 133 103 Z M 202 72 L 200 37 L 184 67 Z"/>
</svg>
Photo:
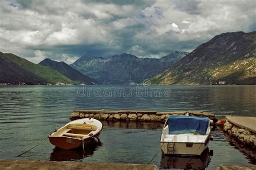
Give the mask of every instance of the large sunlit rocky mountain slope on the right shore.
<svg viewBox="0 0 256 170">
<path fill-rule="evenodd" d="M 256 84 L 256 32 L 227 32 L 199 45 L 153 84 Z"/>
</svg>

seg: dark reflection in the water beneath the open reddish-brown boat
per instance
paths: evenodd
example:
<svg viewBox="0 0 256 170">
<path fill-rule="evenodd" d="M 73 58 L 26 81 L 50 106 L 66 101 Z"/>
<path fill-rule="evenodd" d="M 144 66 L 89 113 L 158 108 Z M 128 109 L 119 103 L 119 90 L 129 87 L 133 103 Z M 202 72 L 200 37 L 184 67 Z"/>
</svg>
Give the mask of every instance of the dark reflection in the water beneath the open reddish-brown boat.
<svg viewBox="0 0 256 170">
<path fill-rule="evenodd" d="M 96 145 L 87 145 L 84 147 L 78 147 L 75 149 L 61 149 L 55 147 L 52 150 L 50 160 L 51 161 L 72 161 L 72 160 L 82 160 L 85 157 L 90 157 L 93 153 L 102 146 L 102 142 L 98 142 Z"/>
</svg>

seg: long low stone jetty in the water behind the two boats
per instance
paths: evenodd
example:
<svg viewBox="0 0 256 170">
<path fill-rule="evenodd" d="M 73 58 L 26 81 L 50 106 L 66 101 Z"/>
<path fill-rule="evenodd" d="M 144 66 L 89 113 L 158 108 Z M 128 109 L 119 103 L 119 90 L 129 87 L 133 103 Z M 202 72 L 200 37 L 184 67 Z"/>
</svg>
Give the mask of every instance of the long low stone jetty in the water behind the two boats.
<svg viewBox="0 0 256 170">
<path fill-rule="evenodd" d="M 119 110 L 119 111 L 104 111 L 104 110 L 74 110 L 71 113 L 71 120 L 81 118 L 95 118 L 98 120 L 107 121 L 159 121 L 164 122 L 168 115 L 196 115 L 210 118 L 211 124 L 218 121 L 213 113 L 203 111 L 173 111 L 173 112 L 157 112 L 157 111 L 137 111 L 137 110 Z"/>
</svg>

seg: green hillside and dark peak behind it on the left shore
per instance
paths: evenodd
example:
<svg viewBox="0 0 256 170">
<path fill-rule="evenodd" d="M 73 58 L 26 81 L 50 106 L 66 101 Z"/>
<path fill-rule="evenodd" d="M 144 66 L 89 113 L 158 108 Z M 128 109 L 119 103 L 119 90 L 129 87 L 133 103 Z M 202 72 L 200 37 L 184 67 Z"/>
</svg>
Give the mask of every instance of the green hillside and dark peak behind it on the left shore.
<svg viewBox="0 0 256 170">
<path fill-rule="evenodd" d="M 34 64 L 11 53 L 0 52 L 0 83 L 6 84 L 98 84 L 98 81 L 50 59 Z"/>
</svg>

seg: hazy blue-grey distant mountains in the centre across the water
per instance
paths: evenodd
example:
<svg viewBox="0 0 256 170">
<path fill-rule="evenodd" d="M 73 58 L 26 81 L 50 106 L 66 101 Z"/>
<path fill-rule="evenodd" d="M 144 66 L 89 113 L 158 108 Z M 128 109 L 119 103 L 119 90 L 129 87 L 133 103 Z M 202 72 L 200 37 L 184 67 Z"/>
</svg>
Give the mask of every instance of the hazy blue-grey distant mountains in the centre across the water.
<svg viewBox="0 0 256 170">
<path fill-rule="evenodd" d="M 103 84 L 137 84 L 163 72 L 187 54 L 176 51 L 160 59 L 127 53 L 109 58 L 85 55 L 70 66 Z"/>
</svg>

